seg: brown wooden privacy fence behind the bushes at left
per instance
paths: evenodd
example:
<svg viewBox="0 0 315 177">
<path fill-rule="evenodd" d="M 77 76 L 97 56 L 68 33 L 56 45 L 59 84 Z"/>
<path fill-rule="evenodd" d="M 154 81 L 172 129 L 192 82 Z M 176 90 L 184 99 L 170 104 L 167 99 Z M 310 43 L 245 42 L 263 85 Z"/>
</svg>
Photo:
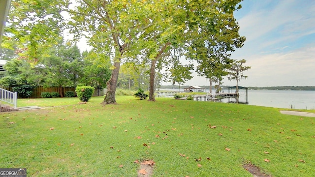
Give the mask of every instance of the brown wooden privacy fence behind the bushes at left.
<svg viewBox="0 0 315 177">
<path fill-rule="evenodd" d="M 5 88 L 2 87 L 3 89 L 12 91 L 12 88 Z M 104 89 L 99 89 L 99 88 L 94 88 L 94 93 L 93 96 L 103 96 L 104 95 Z M 61 96 L 64 97 L 65 92 L 67 91 L 74 91 L 75 92 L 75 88 L 74 87 L 49 87 L 49 88 L 44 88 L 42 86 L 36 87 L 35 89 L 33 89 L 32 95 L 30 96 L 30 98 L 41 98 L 40 94 L 41 92 L 58 92 Z M 18 93 L 18 98 L 22 98 L 22 95 Z"/>
</svg>

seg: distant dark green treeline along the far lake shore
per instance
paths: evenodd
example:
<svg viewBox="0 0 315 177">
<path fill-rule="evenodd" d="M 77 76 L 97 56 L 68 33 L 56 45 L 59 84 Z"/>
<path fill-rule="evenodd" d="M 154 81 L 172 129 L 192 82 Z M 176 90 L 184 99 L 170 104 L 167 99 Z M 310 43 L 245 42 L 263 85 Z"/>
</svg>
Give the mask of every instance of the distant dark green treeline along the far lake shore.
<svg viewBox="0 0 315 177">
<path fill-rule="evenodd" d="M 189 88 L 190 86 L 181 86 L 180 89 Z M 199 86 L 201 88 L 209 89 L 210 86 Z M 223 89 L 227 89 L 230 86 L 221 86 Z M 160 86 L 159 89 L 179 89 L 179 86 Z M 212 89 L 215 89 L 212 86 Z M 267 89 L 267 90 L 315 90 L 315 86 L 280 86 L 280 87 L 249 87 L 249 89 Z"/>
</svg>

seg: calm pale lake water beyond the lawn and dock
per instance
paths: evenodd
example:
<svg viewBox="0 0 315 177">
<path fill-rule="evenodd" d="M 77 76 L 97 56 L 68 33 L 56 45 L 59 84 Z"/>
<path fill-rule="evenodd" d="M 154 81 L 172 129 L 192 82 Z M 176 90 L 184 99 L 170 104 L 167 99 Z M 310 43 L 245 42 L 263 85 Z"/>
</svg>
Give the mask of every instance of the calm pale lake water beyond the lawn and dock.
<svg viewBox="0 0 315 177">
<path fill-rule="evenodd" d="M 178 91 L 178 89 L 174 89 Z M 182 90 L 181 90 L 182 91 Z M 214 90 L 213 90 L 214 91 Z M 228 93 L 228 90 L 223 90 Z M 235 92 L 235 90 L 231 90 Z M 225 98 L 222 102 L 236 101 Z M 246 101 L 245 90 L 240 90 L 240 102 Z M 305 90 L 248 90 L 248 104 L 274 108 L 315 109 L 315 91 Z"/>
</svg>

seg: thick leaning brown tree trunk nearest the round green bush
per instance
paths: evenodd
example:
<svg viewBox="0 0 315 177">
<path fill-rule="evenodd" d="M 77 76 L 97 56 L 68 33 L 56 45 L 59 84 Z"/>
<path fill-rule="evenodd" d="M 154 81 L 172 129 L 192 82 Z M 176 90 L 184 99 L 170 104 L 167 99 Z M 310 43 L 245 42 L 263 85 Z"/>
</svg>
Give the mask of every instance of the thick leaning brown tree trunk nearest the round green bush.
<svg viewBox="0 0 315 177">
<path fill-rule="evenodd" d="M 118 80 L 118 75 L 119 75 L 120 63 L 121 63 L 121 59 L 118 59 L 118 61 L 114 62 L 115 68 L 112 71 L 112 76 L 106 83 L 107 93 L 102 104 L 117 104 L 115 92 L 116 92 L 117 80 Z"/>
</svg>

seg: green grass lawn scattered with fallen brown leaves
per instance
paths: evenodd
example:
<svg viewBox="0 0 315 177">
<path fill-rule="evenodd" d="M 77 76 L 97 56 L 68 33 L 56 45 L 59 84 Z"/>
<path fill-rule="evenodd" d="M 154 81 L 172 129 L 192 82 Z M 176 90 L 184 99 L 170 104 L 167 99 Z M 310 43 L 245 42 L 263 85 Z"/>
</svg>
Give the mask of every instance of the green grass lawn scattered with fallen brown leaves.
<svg viewBox="0 0 315 177">
<path fill-rule="evenodd" d="M 18 107 L 46 108 L 0 114 L 0 168 L 137 177 L 134 161 L 153 159 L 154 177 L 252 177 L 245 163 L 273 177 L 315 176 L 315 118 L 242 104 L 116 99 L 104 107 L 103 97 L 19 99 Z"/>
</svg>

